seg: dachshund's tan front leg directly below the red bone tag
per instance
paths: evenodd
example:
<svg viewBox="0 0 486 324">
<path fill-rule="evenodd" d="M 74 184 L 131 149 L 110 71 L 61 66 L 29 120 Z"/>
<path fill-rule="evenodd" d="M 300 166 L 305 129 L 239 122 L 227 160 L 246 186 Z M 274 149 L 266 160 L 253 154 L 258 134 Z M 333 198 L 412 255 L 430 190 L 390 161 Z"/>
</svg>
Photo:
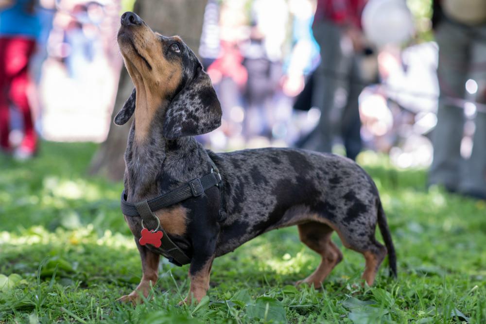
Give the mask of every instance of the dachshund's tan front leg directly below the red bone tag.
<svg viewBox="0 0 486 324">
<path fill-rule="evenodd" d="M 142 279 L 135 290 L 128 295 L 121 296 L 118 300 L 121 302 L 132 302 L 133 304 L 138 304 L 142 302 L 141 295 L 147 298 L 151 287 L 154 287 L 157 282 L 158 262 L 160 256 L 149 251 L 149 249 L 146 247 L 141 246 L 137 239 L 135 241 L 137 243 L 140 259 L 142 261 Z"/>
</svg>

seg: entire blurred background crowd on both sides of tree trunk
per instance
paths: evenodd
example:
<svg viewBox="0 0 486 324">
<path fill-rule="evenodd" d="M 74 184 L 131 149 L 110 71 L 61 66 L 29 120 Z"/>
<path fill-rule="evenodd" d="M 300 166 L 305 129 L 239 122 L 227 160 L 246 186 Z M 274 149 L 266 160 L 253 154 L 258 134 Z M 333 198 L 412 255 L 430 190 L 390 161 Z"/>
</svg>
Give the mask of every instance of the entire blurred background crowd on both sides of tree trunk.
<svg viewBox="0 0 486 324">
<path fill-rule="evenodd" d="M 28 157 L 37 133 L 103 140 L 120 1 L 0 8 L 2 150 Z M 222 127 L 199 138 L 212 149 L 355 159 L 368 148 L 402 168 L 432 165 L 430 185 L 486 197 L 484 0 L 208 0 L 198 54 L 223 108 Z"/>
</svg>

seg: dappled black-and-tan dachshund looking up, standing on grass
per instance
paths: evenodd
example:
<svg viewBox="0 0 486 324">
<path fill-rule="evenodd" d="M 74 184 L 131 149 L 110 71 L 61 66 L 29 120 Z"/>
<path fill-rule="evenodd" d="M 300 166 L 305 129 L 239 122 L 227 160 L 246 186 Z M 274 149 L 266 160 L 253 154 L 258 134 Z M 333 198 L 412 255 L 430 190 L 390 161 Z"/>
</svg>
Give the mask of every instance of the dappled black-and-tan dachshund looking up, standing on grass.
<svg viewBox="0 0 486 324">
<path fill-rule="evenodd" d="M 185 302 L 199 302 L 207 294 L 215 257 L 292 225 L 297 225 L 300 240 L 322 257 L 317 269 L 297 284 L 321 287 L 342 260 L 330 239 L 333 231 L 345 247 L 364 255 L 368 285 L 387 254 L 396 276 L 395 249 L 378 189 L 362 168 L 338 155 L 290 148 L 206 150 L 194 136 L 218 128 L 222 110 L 196 55 L 180 37 L 152 31 L 132 12 L 121 16 L 117 41 L 135 85 L 114 119 L 122 125 L 134 115 L 124 154 L 126 202 L 171 192 L 214 167 L 222 178 L 203 194 L 152 211 L 165 235 L 189 257 Z M 137 303 L 155 285 L 159 257 L 167 253 L 163 246 L 140 243 L 140 217 L 124 218 L 139 249 L 142 278 L 119 300 Z M 386 247 L 375 239 L 377 223 Z"/>
</svg>

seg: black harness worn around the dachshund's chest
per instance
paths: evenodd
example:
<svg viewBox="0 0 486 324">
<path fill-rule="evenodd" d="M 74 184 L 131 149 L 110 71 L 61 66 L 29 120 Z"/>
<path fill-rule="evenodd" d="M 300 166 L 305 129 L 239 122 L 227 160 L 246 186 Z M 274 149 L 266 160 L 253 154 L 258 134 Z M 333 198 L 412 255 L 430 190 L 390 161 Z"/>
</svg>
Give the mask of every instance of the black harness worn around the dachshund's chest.
<svg viewBox="0 0 486 324">
<path fill-rule="evenodd" d="M 128 217 L 141 217 L 142 228 L 152 228 L 154 231 L 162 231 L 162 247 L 165 254 L 169 255 L 169 261 L 175 265 L 182 266 L 191 262 L 191 258 L 187 256 L 167 235 L 165 230 L 160 226 L 159 219 L 153 214 L 153 211 L 169 207 L 171 205 L 180 203 L 188 198 L 200 196 L 208 188 L 213 186 L 220 187 L 221 175 L 216 164 L 209 158 L 212 169 L 211 172 L 201 178 L 196 178 L 185 185 L 175 188 L 163 195 L 160 195 L 151 200 L 143 200 L 136 204 L 130 204 L 126 201 L 125 190 L 121 193 L 121 211 Z M 226 213 L 220 210 L 218 221 L 223 221 L 226 218 Z"/>
</svg>

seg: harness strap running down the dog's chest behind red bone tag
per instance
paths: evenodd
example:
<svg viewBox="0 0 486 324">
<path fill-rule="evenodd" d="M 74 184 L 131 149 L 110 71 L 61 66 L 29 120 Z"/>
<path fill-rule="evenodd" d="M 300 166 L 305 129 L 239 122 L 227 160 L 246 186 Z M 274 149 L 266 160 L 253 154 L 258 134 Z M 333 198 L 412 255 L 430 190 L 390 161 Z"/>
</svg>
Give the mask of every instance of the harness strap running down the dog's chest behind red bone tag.
<svg viewBox="0 0 486 324">
<path fill-rule="evenodd" d="M 160 227 L 160 222 L 158 218 L 150 210 L 149 204 L 146 200 L 137 203 L 136 208 L 142 218 L 143 225 L 148 229 L 155 229 L 162 231 L 162 246 L 164 247 L 164 252 L 169 256 L 172 256 L 172 260 L 169 261 L 181 266 L 191 262 L 191 259 L 186 256 L 186 254 L 169 238 L 164 229 Z M 160 228 L 159 228 L 160 227 Z M 175 262 L 174 262 L 175 261 Z"/>
</svg>

